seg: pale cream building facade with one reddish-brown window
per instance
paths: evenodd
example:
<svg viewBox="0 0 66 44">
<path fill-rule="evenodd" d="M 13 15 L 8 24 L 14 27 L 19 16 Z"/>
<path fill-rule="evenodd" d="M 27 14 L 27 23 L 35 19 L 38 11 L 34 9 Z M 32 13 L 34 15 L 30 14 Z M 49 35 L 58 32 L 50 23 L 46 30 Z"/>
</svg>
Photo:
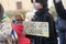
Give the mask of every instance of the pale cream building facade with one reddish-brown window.
<svg viewBox="0 0 66 44">
<path fill-rule="evenodd" d="M 31 11 L 33 9 L 31 0 L 0 0 L 4 11 L 25 10 Z"/>
</svg>

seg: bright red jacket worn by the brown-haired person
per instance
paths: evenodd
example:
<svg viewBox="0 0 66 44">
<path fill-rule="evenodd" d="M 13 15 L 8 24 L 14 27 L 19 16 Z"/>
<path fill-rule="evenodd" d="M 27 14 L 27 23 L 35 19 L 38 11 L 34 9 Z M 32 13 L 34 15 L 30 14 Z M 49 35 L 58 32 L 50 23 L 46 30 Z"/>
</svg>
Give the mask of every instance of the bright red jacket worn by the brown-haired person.
<svg viewBox="0 0 66 44">
<path fill-rule="evenodd" d="M 13 24 L 13 30 L 15 30 L 18 34 L 19 44 L 31 44 L 30 38 L 25 37 L 25 34 L 23 34 L 23 30 L 24 30 L 23 24 Z"/>
</svg>

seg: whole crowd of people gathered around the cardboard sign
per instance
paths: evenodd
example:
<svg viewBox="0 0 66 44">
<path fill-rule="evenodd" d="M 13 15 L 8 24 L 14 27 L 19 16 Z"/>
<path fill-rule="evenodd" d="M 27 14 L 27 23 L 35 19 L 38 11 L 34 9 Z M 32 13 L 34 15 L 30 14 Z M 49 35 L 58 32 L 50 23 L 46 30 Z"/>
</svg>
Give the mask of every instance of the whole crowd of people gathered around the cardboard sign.
<svg viewBox="0 0 66 44">
<path fill-rule="evenodd" d="M 0 3 L 0 44 L 58 44 L 57 37 L 59 37 L 59 44 L 66 44 L 66 10 L 62 0 L 53 0 L 57 12 L 57 20 L 54 21 L 48 12 L 47 1 L 31 0 L 36 11 L 26 13 L 25 18 L 21 13 L 15 13 L 12 19 L 4 14 Z M 26 35 L 24 21 L 48 22 L 50 37 Z"/>
</svg>

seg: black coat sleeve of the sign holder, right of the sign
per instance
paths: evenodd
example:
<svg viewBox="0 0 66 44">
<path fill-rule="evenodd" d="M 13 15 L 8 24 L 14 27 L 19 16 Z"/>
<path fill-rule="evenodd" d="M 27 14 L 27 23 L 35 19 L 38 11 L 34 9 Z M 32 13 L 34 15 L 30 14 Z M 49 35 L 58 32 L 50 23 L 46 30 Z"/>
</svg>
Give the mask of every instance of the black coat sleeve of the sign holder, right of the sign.
<svg viewBox="0 0 66 44">
<path fill-rule="evenodd" d="M 55 29 L 55 22 L 54 19 L 51 15 L 47 15 L 46 21 L 48 22 L 48 29 L 50 29 L 50 37 L 52 37 L 52 41 L 56 41 L 57 38 L 57 33 L 56 33 L 56 29 Z"/>
</svg>

